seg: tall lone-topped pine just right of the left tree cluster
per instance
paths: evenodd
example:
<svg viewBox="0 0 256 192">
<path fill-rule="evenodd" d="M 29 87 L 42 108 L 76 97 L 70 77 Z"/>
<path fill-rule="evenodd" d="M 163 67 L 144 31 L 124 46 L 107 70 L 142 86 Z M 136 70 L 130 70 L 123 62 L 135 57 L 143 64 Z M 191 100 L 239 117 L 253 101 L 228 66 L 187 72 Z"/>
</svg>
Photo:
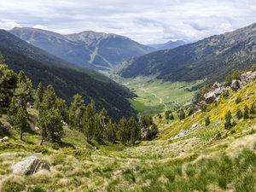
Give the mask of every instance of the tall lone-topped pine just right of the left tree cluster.
<svg viewBox="0 0 256 192">
<path fill-rule="evenodd" d="M 71 103 L 68 111 L 68 119 L 71 126 L 77 127 L 81 130 L 81 120 L 85 109 L 83 96 L 79 94 L 73 96 L 73 102 Z"/>
</svg>

